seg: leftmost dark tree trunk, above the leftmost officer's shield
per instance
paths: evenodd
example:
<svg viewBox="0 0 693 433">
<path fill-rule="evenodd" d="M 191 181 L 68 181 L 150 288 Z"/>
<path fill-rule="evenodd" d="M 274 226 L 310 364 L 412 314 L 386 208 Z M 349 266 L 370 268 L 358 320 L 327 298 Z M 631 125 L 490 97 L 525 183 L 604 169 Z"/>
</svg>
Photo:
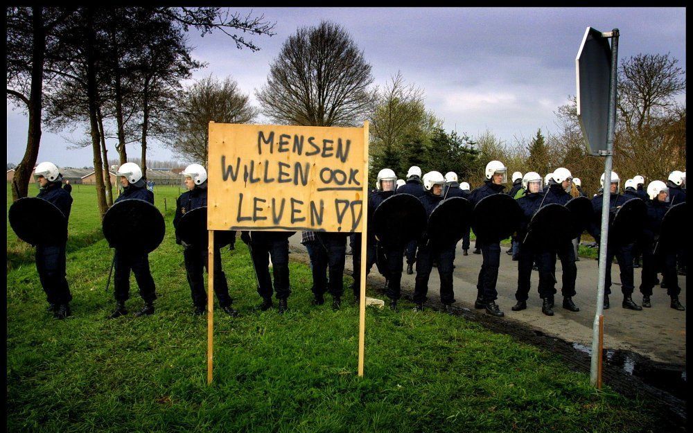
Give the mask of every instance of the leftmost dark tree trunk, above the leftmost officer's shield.
<svg viewBox="0 0 693 433">
<path fill-rule="evenodd" d="M 43 67 L 46 57 L 46 32 L 44 28 L 43 8 L 36 6 L 31 13 L 33 26 L 33 46 L 31 65 L 31 90 L 29 94 L 29 125 L 26 136 L 24 157 L 15 168 L 12 177 L 12 201 L 26 197 L 29 192 L 31 172 L 36 166 L 41 143 L 41 112 L 43 109 Z"/>
</svg>

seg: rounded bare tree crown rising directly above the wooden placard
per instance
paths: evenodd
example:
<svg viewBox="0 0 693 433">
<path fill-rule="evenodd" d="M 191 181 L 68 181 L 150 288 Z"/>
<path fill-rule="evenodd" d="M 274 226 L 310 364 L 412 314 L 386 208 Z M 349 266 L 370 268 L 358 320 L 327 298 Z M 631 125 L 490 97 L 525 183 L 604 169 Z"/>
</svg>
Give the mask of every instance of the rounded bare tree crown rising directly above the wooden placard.
<svg viewBox="0 0 693 433">
<path fill-rule="evenodd" d="M 284 42 L 256 97 L 275 123 L 356 125 L 367 115 L 371 65 L 341 26 L 322 21 Z"/>
</svg>

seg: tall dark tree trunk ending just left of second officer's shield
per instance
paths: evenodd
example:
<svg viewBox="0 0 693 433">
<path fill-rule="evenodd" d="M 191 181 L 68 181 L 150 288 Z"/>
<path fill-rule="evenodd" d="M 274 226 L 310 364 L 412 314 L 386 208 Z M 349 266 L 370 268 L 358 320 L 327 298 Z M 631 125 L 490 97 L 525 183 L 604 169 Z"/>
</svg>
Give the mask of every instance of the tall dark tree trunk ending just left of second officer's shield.
<svg viewBox="0 0 693 433">
<path fill-rule="evenodd" d="M 91 150 L 94 152 L 94 177 L 96 177 L 96 203 L 103 220 L 108 210 L 103 185 L 103 161 L 101 161 L 100 133 L 98 131 L 98 104 L 96 91 L 96 53 L 94 35 L 94 11 L 87 8 L 87 100 L 89 101 L 89 123 L 91 126 Z M 106 162 L 108 164 L 108 162 Z"/>
</svg>

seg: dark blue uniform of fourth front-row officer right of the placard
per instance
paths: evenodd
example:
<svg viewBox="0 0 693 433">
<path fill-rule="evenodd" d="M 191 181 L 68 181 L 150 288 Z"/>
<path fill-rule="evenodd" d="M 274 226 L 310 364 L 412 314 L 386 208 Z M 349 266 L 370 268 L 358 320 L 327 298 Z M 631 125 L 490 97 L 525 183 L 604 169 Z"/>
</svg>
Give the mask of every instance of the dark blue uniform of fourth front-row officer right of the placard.
<svg viewBox="0 0 693 433">
<path fill-rule="evenodd" d="M 529 298 L 529 289 L 531 288 L 532 265 L 536 262 L 539 269 L 539 285 L 538 292 L 541 299 L 553 298 L 556 293 L 554 288 L 554 273 L 551 269 L 550 251 L 538 251 L 531 245 L 525 244 L 524 240 L 527 235 L 527 227 L 529 221 L 532 220 L 534 214 L 540 209 L 544 199 L 543 191 L 540 193 L 527 193 L 518 199 L 520 209 L 522 209 L 525 218 L 520 223 L 518 229 L 518 288 L 515 292 L 515 299 L 518 301 L 527 301 Z"/>
</svg>

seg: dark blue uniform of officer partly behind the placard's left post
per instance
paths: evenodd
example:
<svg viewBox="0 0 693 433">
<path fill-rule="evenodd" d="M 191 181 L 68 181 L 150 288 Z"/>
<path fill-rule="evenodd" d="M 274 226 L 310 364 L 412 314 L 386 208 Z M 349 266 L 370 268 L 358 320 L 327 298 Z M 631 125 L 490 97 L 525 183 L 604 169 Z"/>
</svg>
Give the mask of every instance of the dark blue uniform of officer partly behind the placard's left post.
<svg viewBox="0 0 693 433">
<path fill-rule="evenodd" d="M 195 186 L 191 191 L 182 193 L 176 200 L 175 216 L 173 217 L 173 227 L 178 226 L 178 222 L 185 213 L 207 206 L 207 182 L 200 186 Z M 199 309 L 204 309 L 207 305 L 207 292 L 204 291 L 204 269 L 209 272 L 209 254 L 206 248 L 200 245 L 186 245 L 176 236 L 176 243 L 183 245 L 183 260 L 185 263 L 188 285 L 193 298 L 193 305 Z M 214 248 L 214 293 L 219 300 L 222 308 L 231 305 L 229 297 L 229 284 L 226 274 L 221 267 L 220 248 Z"/>
</svg>

